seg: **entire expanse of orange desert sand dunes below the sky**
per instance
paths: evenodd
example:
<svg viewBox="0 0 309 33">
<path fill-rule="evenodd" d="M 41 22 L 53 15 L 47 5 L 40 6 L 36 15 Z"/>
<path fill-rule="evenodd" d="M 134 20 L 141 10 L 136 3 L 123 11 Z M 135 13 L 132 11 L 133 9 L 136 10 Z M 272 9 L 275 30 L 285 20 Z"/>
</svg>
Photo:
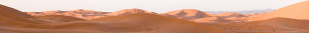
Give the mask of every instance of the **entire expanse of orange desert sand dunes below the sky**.
<svg viewBox="0 0 309 33">
<path fill-rule="evenodd" d="M 165 13 L 139 8 L 22 12 L 0 4 L 4 33 L 306 33 L 309 0 L 267 12 L 210 14 L 196 9 Z M 28 14 L 27 14 L 28 13 Z"/>
</svg>

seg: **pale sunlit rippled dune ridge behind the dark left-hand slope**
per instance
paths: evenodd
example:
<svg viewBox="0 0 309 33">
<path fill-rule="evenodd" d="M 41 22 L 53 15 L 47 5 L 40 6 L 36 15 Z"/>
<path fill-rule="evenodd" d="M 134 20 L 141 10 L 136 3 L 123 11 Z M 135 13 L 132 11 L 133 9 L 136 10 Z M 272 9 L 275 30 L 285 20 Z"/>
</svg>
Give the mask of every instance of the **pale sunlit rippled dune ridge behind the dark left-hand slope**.
<svg viewBox="0 0 309 33">
<path fill-rule="evenodd" d="M 76 9 L 76 10 L 52 10 L 52 11 L 43 11 L 43 12 L 25 12 L 33 16 L 42 16 L 42 15 L 50 15 L 50 14 L 57 14 L 57 15 L 67 15 L 73 16 L 83 19 L 93 19 L 98 17 L 107 16 L 105 14 L 110 12 L 101 12 L 101 11 L 94 11 L 94 10 L 85 10 L 85 9 Z"/>
</svg>

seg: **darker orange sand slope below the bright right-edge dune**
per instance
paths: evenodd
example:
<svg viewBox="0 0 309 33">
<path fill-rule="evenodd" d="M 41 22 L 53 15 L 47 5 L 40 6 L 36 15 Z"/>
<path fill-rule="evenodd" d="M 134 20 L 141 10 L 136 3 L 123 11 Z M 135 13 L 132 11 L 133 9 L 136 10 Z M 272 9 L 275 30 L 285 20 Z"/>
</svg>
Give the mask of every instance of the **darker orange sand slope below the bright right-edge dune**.
<svg viewBox="0 0 309 33">
<path fill-rule="evenodd" d="M 283 27 L 283 28 L 298 28 L 309 30 L 309 20 L 308 19 L 292 19 L 292 18 L 283 18 L 283 17 L 275 17 L 267 20 L 260 21 L 249 21 L 245 24 L 263 24 L 274 27 Z"/>
</svg>

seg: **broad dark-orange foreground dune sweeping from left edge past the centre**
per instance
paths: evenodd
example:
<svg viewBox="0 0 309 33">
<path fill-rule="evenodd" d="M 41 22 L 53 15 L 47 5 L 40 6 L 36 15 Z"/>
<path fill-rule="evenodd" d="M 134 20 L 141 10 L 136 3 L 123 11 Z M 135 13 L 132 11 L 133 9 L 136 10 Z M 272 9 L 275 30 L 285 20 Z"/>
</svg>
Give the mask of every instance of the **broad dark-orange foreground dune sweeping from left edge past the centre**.
<svg viewBox="0 0 309 33">
<path fill-rule="evenodd" d="M 13 32 L 13 33 L 39 33 L 39 32 L 90 32 L 90 33 L 226 33 L 222 29 L 212 27 L 209 25 L 203 25 L 193 21 L 171 18 L 151 13 L 133 13 L 117 16 L 107 16 L 97 19 L 91 19 L 82 21 L 80 18 L 64 16 L 64 15 L 43 15 L 34 17 L 34 19 L 52 18 L 52 20 L 61 20 L 61 18 L 81 21 L 69 21 L 69 22 L 44 22 L 36 21 L 33 18 L 23 18 L 8 12 L 1 10 L 4 13 L 1 14 L 0 20 L 0 32 Z M 47 19 L 48 20 L 48 19 Z M 49 19 L 50 20 L 50 19 Z"/>
</svg>

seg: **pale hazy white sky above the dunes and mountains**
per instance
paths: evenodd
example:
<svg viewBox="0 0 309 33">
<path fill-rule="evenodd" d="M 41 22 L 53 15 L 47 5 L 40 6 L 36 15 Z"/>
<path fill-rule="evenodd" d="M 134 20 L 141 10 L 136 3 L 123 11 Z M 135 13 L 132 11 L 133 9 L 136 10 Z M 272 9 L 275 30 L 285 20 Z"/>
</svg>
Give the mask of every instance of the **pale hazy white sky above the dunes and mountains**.
<svg viewBox="0 0 309 33">
<path fill-rule="evenodd" d="M 0 4 L 21 11 L 89 9 L 114 12 L 128 8 L 164 13 L 178 9 L 238 11 L 278 9 L 305 0 L 0 0 Z"/>
</svg>

